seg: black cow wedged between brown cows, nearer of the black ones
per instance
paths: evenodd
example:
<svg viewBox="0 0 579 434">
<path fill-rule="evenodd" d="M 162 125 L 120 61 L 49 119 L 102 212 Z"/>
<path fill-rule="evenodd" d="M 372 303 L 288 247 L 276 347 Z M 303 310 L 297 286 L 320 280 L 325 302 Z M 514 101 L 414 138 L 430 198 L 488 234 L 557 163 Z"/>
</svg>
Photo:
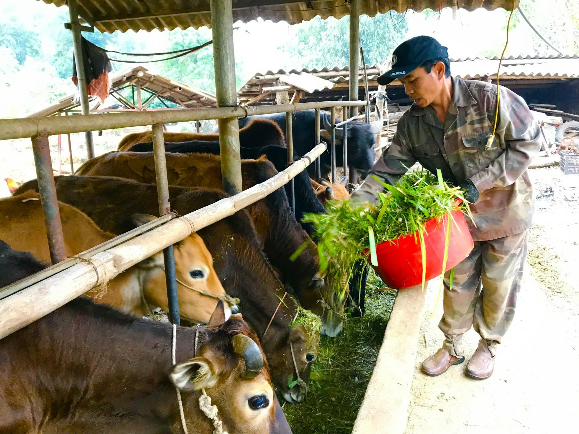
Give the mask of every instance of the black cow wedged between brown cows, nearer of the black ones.
<svg viewBox="0 0 579 434">
<path fill-rule="evenodd" d="M 130 152 L 152 152 L 153 142 L 138 143 L 131 148 Z M 165 142 L 165 152 L 174 153 L 210 153 L 219 155 L 219 142 L 208 142 L 208 141 L 190 141 L 190 142 L 179 142 L 171 143 Z M 242 159 L 257 159 L 262 155 L 265 155 L 269 161 L 273 163 L 277 171 L 282 171 L 287 167 L 287 149 L 282 146 L 267 145 L 261 148 L 240 148 Z M 298 156 L 294 153 L 294 160 L 298 159 Z M 329 187 L 328 187 L 329 189 Z M 326 194 L 331 194 L 331 190 L 328 192 L 326 189 Z M 299 173 L 294 178 L 294 190 L 295 190 L 295 218 L 298 222 L 302 221 L 303 213 L 313 212 L 316 214 L 321 214 L 325 211 L 324 206 L 318 200 L 316 193 L 312 189 L 312 184 L 310 183 L 310 178 L 306 171 Z M 288 197 L 291 195 L 290 184 L 285 185 L 285 192 Z M 308 234 L 312 234 L 313 228 L 311 223 L 302 223 L 303 229 L 306 230 Z"/>
</svg>

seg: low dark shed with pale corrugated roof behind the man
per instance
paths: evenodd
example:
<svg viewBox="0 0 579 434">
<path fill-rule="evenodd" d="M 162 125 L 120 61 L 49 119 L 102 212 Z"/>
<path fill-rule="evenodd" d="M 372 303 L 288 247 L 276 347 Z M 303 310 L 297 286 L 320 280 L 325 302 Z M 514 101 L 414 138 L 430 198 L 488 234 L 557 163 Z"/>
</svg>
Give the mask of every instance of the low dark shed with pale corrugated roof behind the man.
<svg viewBox="0 0 579 434">
<path fill-rule="evenodd" d="M 463 79 L 485 80 L 496 83 L 498 57 L 475 57 L 450 59 L 450 72 Z M 384 64 L 366 65 L 368 87 L 370 93 L 378 90 L 380 71 L 386 71 Z M 296 86 L 290 83 L 294 77 L 301 77 L 303 82 L 314 87 Z M 267 71 L 256 73 L 237 92 L 240 102 L 251 105 L 270 105 L 276 102 L 276 92 L 286 91 L 290 97 L 295 93 L 294 101 L 335 101 L 344 99 L 348 94 L 350 68 L 324 67 L 291 69 L 277 72 Z M 555 55 L 541 56 L 511 56 L 503 59 L 499 73 L 499 81 L 503 86 L 515 91 L 531 104 L 556 105 L 563 112 L 579 115 L 577 96 L 579 95 L 579 56 Z M 394 80 L 386 87 L 389 104 L 409 105 L 411 100 L 405 95 L 404 87 Z M 358 72 L 358 96 L 364 99 L 364 70 Z"/>
</svg>

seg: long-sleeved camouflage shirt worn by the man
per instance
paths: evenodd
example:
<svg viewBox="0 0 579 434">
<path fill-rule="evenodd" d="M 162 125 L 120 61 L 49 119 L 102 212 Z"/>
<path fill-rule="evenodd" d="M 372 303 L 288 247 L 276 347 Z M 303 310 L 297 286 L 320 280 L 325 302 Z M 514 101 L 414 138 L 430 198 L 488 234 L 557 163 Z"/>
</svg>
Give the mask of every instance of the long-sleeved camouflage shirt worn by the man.
<svg viewBox="0 0 579 434">
<path fill-rule="evenodd" d="M 497 104 L 497 87 L 453 77 L 453 99 L 444 125 L 431 106 L 413 105 L 398 121 L 397 133 L 369 175 L 395 183 L 418 161 L 433 173 L 440 168 L 447 181 L 470 179 L 480 193 L 470 209 L 475 241 L 494 240 L 529 228 L 533 186 L 527 167 L 540 150 L 538 123 L 525 101 L 499 86 L 499 124 L 489 149 Z M 375 201 L 383 187 L 371 176 L 352 197 Z"/>
</svg>

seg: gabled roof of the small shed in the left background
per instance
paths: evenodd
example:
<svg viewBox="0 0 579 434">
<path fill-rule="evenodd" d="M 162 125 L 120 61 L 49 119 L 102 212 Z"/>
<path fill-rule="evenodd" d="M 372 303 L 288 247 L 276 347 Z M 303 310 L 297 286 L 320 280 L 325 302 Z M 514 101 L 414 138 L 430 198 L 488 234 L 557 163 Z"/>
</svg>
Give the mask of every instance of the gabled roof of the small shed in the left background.
<svg viewBox="0 0 579 434">
<path fill-rule="evenodd" d="M 207 93 L 204 90 L 197 89 L 196 87 L 188 86 L 185 83 L 178 82 L 162 75 L 152 74 L 147 72 L 148 69 L 142 66 L 134 67 L 118 73 L 111 78 L 111 88 L 113 90 L 119 90 L 126 86 L 141 86 L 141 89 L 145 89 L 152 94 L 158 94 L 163 97 L 164 100 L 171 101 L 174 104 L 178 104 L 184 108 L 200 108 L 200 107 L 217 107 L 217 98 L 215 95 Z M 115 95 L 119 97 L 118 94 Z M 150 97 L 148 94 L 143 94 L 142 104 L 145 106 L 146 98 Z M 97 112 L 115 112 L 122 111 L 122 109 L 111 109 L 108 108 L 111 104 L 114 104 L 116 100 L 109 95 L 104 104 L 96 104 L 94 108 L 91 109 L 91 113 Z M 130 101 L 129 101 L 130 102 Z M 38 116 L 52 116 L 56 113 L 68 111 L 69 109 L 79 106 L 78 98 L 76 95 L 68 95 L 67 97 L 61 98 L 56 104 L 48 106 L 41 111 L 32 113 L 28 117 L 38 117 Z M 114 104 L 118 105 L 118 104 Z M 139 109 L 135 107 L 134 110 L 147 110 L 146 106 Z M 151 109 L 149 109 L 151 110 Z M 155 109 L 153 109 L 155 110 Z"/>
</svg>

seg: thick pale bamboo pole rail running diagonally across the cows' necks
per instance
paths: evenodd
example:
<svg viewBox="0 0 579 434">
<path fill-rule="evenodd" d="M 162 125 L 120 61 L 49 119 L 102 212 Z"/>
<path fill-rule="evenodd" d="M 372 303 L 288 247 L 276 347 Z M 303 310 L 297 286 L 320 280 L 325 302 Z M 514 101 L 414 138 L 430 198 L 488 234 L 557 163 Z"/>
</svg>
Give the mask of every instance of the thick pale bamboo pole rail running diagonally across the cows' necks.
<svg viewBox="0 0 579 434">
<path fill-rule="evenodd" d="M 175 218 L 0 300 L 0 339 L 42 318 L 87 290 L 104 284 L 156 252 L 184 240 L 191 233 L 266 197 L 305 170 L 325 149 L 325 144 L 319 144 L 290 167 L 263 183 Z"/>
</svg>

